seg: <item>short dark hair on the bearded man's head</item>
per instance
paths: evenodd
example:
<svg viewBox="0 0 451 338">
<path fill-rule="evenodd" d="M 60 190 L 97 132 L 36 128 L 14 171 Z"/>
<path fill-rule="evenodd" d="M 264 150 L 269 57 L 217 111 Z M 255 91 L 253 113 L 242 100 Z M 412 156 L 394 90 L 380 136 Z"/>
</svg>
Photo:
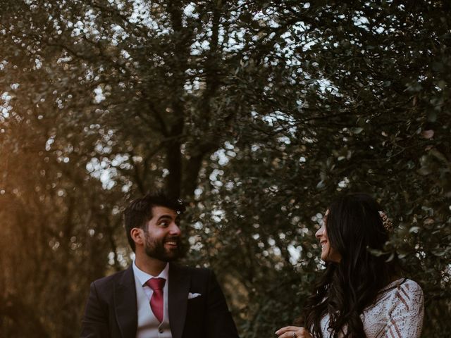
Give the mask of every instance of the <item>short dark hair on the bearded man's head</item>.
<svg viewBox="0 0 451 338">
<path fill-rule="evenodd" d="M 185 211 L 185 205 L 181 199 L 173 198 L 165 192 L 148 193 L 140 199 L 130 202 L 124 211 L 125 232 L 127 233 L 128 244 L 135 252 L 135 242 L 132 239 L 130 231 L 134 227 L 144 229 L 149 220 L 152 219 L 152 208 L 154 206 L 164 206 L 181 214 Z"/>
</svg>

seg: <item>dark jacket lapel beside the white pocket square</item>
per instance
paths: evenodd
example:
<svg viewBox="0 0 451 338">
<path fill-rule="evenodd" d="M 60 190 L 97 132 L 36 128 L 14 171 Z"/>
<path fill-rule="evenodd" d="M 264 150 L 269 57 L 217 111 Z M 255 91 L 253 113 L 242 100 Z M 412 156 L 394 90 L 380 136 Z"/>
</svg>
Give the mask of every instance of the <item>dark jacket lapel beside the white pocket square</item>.
<svg viewBox="0 0 451 338">
<path fill-rule="evenodd" d="M 169 265 L 169 325 L 173 338 L 181 338 L 185 327 L 190 276 L 183 274 L 180 267 Z"/>
</svg>

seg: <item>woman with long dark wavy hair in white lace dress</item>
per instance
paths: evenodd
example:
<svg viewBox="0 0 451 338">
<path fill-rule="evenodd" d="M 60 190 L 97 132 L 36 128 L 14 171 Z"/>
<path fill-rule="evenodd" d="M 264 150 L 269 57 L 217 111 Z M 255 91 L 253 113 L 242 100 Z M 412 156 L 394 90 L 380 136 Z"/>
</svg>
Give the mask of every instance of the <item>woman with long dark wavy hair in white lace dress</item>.
<svg viewBox="0 0 451 338">
<path fill-rule="evenodd" d="M 299 318 L 279 338 L 417 338 L 424 314 L 421 287 L 399 276 L 382 253 L 391 223 L 371 196 L 333 202 L 316 232 L 326 271 Z"/>
</svg>

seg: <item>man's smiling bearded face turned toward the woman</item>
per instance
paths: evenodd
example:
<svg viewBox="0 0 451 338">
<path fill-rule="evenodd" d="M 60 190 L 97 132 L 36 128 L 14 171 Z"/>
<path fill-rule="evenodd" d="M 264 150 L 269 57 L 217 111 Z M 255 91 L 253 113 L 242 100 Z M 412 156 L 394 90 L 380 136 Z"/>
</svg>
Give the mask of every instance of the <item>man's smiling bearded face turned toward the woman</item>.
<svg viewBox="0 0 451 338">
<path fill-rule="evenodd" d="M 180 216 L 170 208 L 154 206 L 152 219 L 144 227 L 144 250 L 147 256 L 169 262 L 180 254 Z"/>
</svg>

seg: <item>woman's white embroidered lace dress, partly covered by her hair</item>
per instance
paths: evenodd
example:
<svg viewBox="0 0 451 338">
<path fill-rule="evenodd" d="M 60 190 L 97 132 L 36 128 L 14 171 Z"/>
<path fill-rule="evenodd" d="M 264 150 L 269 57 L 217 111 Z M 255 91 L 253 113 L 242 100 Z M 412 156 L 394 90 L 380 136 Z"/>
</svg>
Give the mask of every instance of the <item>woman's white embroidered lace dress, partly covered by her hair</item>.
<svg viewBox="0 0 451 338">
<path fill-rule="evenodd" d="M 367 338 L 419 338 L 423 316 L 424 296 L 421 287 L 413 280 L 402 278 L 388 284 L 360 318 Z M 324 338 L 332 337 L 328 326 L 329 315 L 325 315 L 321 319 Z"/>
</svg>

